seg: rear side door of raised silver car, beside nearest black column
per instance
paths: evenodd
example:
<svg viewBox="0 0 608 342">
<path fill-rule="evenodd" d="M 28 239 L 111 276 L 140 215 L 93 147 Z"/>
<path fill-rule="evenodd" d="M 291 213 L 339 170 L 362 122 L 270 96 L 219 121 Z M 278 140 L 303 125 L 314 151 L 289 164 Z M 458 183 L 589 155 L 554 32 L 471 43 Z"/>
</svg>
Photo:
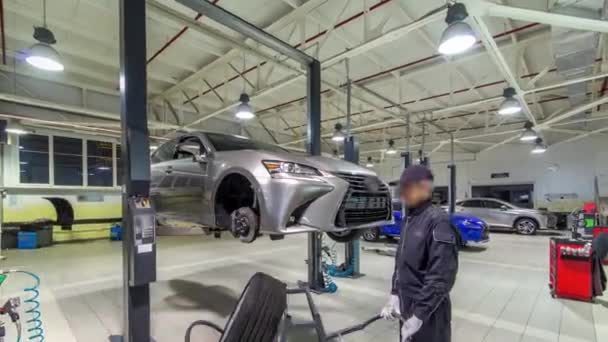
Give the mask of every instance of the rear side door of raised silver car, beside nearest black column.
<svg viewBox="0 0 608 342">
<path fill-rule="evenodd" d="M 150 198 L 159 217 L 169 214 L 169 203 L 173 191 L 173 175 L 171 174 L 171 163 L 177 140 L 169 140 L 162 144 L 151 156 Z"/>
</svg>

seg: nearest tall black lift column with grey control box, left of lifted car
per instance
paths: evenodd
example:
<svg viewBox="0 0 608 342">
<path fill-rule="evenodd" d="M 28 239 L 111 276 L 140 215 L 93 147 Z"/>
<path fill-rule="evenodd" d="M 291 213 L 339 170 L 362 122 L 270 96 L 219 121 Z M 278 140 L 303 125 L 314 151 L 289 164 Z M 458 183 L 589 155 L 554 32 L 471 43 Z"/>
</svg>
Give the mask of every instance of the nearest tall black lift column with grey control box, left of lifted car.
<svg viewBox="0 0 608 342">
<path fill-rule="evenodd" d="M 146 0 L 120 1 L 120 92 L 123 190 L 122 341 L 150 342 L 150 287 L 156 275 L 156 250 L 136 250 L 131 198 L 150 192 L 150 145 L 146 108 Z M 135 280 L 134 280 L 135 279 Z M 143 280 L 141 280 L 143 279 Z"/>
</svg>

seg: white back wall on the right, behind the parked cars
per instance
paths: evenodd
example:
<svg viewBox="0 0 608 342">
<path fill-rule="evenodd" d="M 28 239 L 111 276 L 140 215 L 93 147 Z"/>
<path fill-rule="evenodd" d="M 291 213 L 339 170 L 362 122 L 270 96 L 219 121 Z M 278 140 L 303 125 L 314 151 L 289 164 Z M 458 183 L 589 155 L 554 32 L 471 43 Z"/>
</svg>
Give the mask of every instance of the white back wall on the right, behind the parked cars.
<svg viewBox="0 0 608 342">
<path fill-rule="evenodd" d="M 593 182 L 598 176 L 600 196 L 608 196 L 608 136 L 598 135 L 549 148 L 542 155 L 531 155 L 530 146 L 505 145 L 487 153 L 456 156 L 457 196 L 470 197 L 472 185 L 534 184 L 535 205 L 551 210 L 570 210 L 594 199 Z M 447 185 L 446 154 L 431 157 L 431 169 L 438 186 Z M 473 160 L 474 159 L 474 160 Z M 465 161 L 468 160 L 468 161 Z M 403 162 L 392 159 L 376 167 L 385 180 L 399 177 Z M 508 172 L 509 178 L 492 179 L 492 173 Z M 576 200 L 548 201 L 548 194 L 575 193 Z"/>
</svg>

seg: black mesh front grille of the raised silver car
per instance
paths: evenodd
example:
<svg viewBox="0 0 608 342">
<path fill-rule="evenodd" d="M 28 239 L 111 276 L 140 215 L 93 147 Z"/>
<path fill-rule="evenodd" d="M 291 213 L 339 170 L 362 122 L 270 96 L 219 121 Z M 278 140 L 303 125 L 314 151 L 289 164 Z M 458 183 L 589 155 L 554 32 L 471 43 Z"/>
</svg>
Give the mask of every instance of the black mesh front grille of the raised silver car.
<svg viewBox="0 0 608 342">
<path fill-rule="evenodd" d="M 349 227 L 390 220 L 391 196 L 388 187 L 376 176 L 336 173 L 349 183 L 336 215 L 337 227 Z"/>
</svg>

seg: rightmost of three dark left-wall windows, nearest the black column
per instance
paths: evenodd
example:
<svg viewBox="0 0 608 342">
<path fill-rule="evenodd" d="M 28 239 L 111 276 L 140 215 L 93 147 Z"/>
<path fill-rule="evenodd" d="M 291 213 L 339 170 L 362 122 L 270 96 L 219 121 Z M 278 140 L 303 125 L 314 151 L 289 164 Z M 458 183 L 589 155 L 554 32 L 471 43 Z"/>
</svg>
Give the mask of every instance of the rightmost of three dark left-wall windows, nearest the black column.
<svg viewBox="0 0 608 342">
<path fill-rule="evenodd" d="M 89 186 L 114 185 L 111 142 L 87 140 L 87 169 Z"/>
</svg>

